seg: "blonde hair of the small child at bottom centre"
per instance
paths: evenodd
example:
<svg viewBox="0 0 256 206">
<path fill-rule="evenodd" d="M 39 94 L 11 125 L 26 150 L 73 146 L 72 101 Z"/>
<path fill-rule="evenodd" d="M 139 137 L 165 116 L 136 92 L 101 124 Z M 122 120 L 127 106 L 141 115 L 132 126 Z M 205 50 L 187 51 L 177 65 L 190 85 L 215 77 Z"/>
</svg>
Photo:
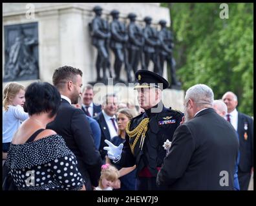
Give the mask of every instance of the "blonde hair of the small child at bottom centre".
<svg viewBox="0 0 256 206">
<path fill-rule="evenodd" d="M 102 178 L 105 178 L 106 180 L 109 180 L 111 182 L 114 182 L 118 180 L 119 178 L 119 171 L 116 169 L 116 167 L 110 165 L 110 164 L 105 164 L 101 166 L 101 175 L 100 175 L 100 182 L 99 182 L 99 187 L 103 189 L 102 185 Z"/>
</svg>

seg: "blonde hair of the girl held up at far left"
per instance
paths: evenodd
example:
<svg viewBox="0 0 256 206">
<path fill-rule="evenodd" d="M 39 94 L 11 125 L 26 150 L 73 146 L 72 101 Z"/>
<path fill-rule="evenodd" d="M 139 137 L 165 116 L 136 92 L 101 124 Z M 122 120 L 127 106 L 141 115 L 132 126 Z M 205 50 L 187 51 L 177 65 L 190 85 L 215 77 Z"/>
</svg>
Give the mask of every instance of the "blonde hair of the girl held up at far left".
<svg viewBox="0 0 256 206">
<path fill-rule="evenodd" d="M 7 106 L 11 104 L 12 100 L 21 89 L 25 90 L 25 87 L 17 82 L 6 84 L 3 91 L 3 108 L 5 108 L 5 111 L 8 110 Z"/>
</svg>

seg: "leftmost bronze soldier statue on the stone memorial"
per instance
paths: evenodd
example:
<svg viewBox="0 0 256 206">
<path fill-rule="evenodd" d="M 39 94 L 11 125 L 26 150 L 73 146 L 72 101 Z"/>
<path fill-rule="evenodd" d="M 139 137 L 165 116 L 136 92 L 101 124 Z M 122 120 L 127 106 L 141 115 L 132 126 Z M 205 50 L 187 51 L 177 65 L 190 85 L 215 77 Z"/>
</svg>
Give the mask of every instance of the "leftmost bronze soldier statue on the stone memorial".
<svg viewBox="0 0 256 206">
<path fill-rule="evenodd" d="M 93 8 L 95 18 L 90 24 L 92 44 L 97 48 L 98 55 L 96 59 L 97 81 L 103 79 L 103 82 L 107 82 L 106 68 L 109 66 L 109 53 L 107 50 L 107 41 L 111 37 L 109 23 L 101 18 L 102 8 L 95 6 Z M 100 70 L 103 70 L 102 78 L 100 76 Z M 111 73 L 110 73 L 111 76 Z"/>
</svg>

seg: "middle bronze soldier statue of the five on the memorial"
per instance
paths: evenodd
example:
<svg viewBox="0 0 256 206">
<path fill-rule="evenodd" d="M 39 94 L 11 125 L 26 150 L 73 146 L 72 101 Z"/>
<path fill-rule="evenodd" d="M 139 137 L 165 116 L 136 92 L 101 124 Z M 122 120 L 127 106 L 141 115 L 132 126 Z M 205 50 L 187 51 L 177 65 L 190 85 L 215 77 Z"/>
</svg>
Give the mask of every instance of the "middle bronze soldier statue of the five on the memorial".
<svg viewBox="0 0 256 206">
<path fill-rule="evenodd" d="M 127 44 L 128 59 L 131 68 L 133 68 L 134 75 L 138 70 L 138 63 L 142 62 L 142 46 L 144 45 L 144 34 L 142 28 L 135 24 L 136 14 L 130 13 L 127 18 L 130 19 L 130 23 L 127 26 L 129 41 Z M 143 68 L 143 65 L 142 65 Z"/>
</svg>

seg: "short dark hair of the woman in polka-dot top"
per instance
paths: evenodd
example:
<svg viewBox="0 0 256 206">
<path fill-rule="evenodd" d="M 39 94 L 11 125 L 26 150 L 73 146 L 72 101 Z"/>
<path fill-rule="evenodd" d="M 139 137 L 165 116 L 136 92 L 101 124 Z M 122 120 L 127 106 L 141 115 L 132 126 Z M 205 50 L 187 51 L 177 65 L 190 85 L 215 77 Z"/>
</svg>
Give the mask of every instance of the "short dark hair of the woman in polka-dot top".
<svg viewBox="0 0 256 206">
<path fill-rule="evenodd" d="M 61 97 L 58 89 L 48 82 L 34 82 L 25 92 L 24 111 L 28 115 L 50 111 L 50 118 L 56 115 Z"/>
</svg>

